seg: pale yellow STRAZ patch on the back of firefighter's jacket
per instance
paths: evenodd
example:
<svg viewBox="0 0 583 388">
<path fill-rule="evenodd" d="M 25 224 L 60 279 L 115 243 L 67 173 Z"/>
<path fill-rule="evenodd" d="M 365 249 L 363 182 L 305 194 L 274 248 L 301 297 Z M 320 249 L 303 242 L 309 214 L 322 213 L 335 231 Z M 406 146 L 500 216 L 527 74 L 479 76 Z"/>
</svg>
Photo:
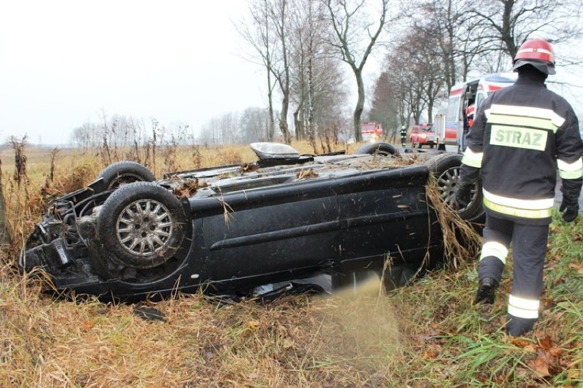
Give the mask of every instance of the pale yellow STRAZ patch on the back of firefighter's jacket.
<svg viewBox="0 0 583 388">
<path fill-rule="evenodd" d="M 545 151 L 548 135 L 548 131 L 542 129 L 492 125 L 490 144 Z"/>
</svg>

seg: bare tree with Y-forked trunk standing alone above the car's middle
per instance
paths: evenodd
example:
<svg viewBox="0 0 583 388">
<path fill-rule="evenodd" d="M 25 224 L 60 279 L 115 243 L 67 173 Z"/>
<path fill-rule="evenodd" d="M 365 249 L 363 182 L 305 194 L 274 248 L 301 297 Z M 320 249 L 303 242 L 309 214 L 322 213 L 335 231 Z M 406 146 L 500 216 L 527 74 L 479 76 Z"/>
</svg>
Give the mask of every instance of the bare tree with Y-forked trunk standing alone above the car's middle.
<svg viewBox="0 0 583 388">
<path fill-rule="evenodd" d="M 328 17 L 333 27 L 331 47 L 333 53 L 346 62 L 357 81 L 358 99 L 354 108 L 354 138 L 361 140 L 361 114 L 365 103 L 365 88 L 363 68 L 374 48 L 387 21 L 389 0 L 380 0 L 378 20 L 369 20 L 370 7 L 365 6 L 365 0 L 324 0 L 328 8 Z M 363 31 L 366 38 L 363 37 Z M 363 40 L 367 43 L 362 44 Z"/>
</svg>

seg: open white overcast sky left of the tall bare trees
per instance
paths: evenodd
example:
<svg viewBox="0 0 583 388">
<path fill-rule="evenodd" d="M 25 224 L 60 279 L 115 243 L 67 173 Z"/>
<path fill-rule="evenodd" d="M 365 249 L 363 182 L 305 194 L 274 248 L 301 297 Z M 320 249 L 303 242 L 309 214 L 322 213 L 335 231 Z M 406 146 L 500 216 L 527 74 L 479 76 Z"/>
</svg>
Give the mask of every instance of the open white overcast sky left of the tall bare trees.
<svg viewBox="0 0 583 388">
<path fill-rule="evenodd" d="M 2 1 L 0 142 L 67 143 L 101 112 L 184 122 L 264 106 L 244 0 Z"/>
</svg>

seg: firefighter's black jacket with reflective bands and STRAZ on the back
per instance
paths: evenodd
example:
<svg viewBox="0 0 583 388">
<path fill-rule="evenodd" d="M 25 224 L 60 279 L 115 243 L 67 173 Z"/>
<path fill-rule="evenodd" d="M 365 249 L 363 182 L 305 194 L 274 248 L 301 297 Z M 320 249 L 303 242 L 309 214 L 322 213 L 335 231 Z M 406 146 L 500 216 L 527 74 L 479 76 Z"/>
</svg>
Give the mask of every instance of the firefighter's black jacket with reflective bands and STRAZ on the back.
<svg viewBox="0 0 583 388">
<path fill-rule="evenodd" d="M 461 179 L 482 169 L 489 214 L 526 224 L 551 221 L 556 171 L 580 187 L 583 145 L 573 108 L 524 72 L 480 107 L 467 135 Z"/>
</svg>

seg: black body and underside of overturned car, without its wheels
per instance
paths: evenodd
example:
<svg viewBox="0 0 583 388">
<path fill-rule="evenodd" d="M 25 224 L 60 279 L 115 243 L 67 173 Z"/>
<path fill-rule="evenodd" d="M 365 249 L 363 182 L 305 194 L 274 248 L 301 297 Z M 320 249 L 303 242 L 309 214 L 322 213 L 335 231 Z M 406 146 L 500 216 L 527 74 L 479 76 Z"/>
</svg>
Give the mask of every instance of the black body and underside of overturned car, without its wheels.
<svg viewBox="0 0 583 388">
<path fill-rule="evenodd" d="M 416 157 L 421 162 L 407 165 L 395 157 L 328 155 L 166 174 L 157 185 L 197 187 L 180 198 L 190 220 L 180 226 L 185 240 L 150 269 L 105 259 L 110 242 L 96 235 L 95 223 L 111 192 L 100 192 L 98 180 L 53 203 L 21 266 L 44 268 L 57 292 L 130 301 L 198 289 L 244 294 L 317 274 L 343 284 L 354 272 L 383 270 L 387 260 L 428 268 L 441 260 L 443 242 L 426 198 L 428 164 Z"/>
</svg>

